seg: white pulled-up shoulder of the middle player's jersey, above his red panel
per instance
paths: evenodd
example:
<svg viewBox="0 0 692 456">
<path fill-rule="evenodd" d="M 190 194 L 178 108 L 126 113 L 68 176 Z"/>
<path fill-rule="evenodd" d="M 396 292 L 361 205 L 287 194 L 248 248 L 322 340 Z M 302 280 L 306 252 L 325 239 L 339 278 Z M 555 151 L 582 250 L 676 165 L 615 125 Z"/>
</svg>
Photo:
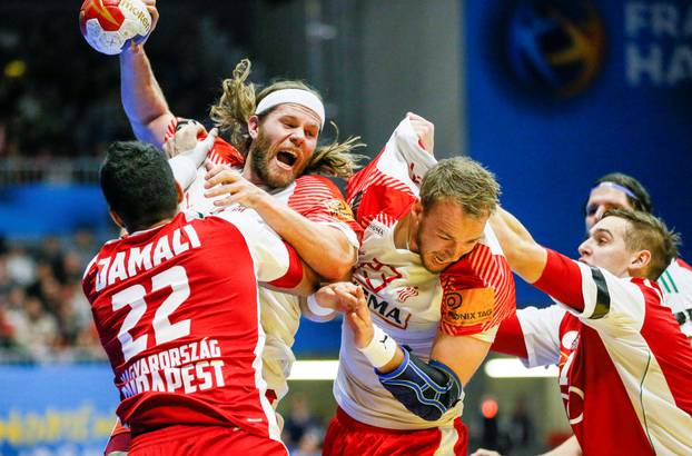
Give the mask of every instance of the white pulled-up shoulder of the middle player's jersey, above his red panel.
<svg viewBox="0 0 692 456">
<path fill-rule="evenodd" d="M 421 147 L 418 140 L 411 120 L 404 118 L 385 145 L 377 162 L 379 170 L 398 180 L 413 184 L 416 188 L 419 187 L 423 176 L 437 165 L 437 160 Z"/>
</svg>

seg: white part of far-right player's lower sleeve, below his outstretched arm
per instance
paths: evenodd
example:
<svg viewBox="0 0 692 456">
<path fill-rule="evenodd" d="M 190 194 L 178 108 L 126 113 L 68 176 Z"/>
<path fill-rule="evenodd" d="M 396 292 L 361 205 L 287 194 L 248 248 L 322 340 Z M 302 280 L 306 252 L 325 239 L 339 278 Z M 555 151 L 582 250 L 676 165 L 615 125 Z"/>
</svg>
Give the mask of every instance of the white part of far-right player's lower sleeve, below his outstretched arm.
<svg viewBox="0 0 692 456">
<path fill-rule="evenodd" d="M 528 356 L 522 359 L 526 367 L 550 366 L 560 361 L 560 323 L 564 316 L 565 310 L 560 306 L 516 310 Z"/>
</svg>

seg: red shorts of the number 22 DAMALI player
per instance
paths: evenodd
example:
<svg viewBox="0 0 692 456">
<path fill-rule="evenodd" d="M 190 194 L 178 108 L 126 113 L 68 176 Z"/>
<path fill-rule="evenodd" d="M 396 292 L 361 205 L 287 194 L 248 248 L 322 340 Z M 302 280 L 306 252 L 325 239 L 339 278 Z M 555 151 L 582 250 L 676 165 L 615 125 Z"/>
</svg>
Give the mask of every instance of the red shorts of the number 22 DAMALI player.
<svg viewBox="0 0 692 456">
<path fill-rule="evenodd" d="M 132 437 L 128 456 L 288 456 L 283 443 L 238 427 L 169 426 Z"/>
</svg>

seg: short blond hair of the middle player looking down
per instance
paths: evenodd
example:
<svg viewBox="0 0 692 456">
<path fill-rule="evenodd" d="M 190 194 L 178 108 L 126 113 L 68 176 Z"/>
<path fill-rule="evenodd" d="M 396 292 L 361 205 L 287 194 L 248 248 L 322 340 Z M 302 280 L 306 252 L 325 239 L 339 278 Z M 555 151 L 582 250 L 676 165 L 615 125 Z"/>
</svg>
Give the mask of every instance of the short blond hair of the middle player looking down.
<svg viewBox="0 0 692 456">
<path fill-rule="evenodd" d="M 427 210 L 434 202 L 452 200 L 471 217 L 487 217 L 497 208 L 500 184 L 495 176 L 468 157 L 439 160 L 425 174 L 421 202 Z"/>
</svg>

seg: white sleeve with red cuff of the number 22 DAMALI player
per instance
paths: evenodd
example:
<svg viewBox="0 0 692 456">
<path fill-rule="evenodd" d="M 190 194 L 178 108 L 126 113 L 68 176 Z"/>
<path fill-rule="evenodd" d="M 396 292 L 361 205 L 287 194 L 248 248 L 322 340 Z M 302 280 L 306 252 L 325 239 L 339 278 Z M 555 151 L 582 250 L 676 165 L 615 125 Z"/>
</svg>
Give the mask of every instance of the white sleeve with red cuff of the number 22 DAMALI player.
<svg viewBox="0 0 692 456">
<path fill-rule="evenodd" d="M 287 276 L 295 274 L 296 261 L 299 265 L 298 257 L 291 255 L 279 235 L 255 210 L 235 205 L 215 214 L 214 217 L 223 218 L 240 230 L 255 261 L 259 281 L 270 282 L 290 278 Z M 299 270 L 303 271 L 301 268 Z"/>
</svg>

